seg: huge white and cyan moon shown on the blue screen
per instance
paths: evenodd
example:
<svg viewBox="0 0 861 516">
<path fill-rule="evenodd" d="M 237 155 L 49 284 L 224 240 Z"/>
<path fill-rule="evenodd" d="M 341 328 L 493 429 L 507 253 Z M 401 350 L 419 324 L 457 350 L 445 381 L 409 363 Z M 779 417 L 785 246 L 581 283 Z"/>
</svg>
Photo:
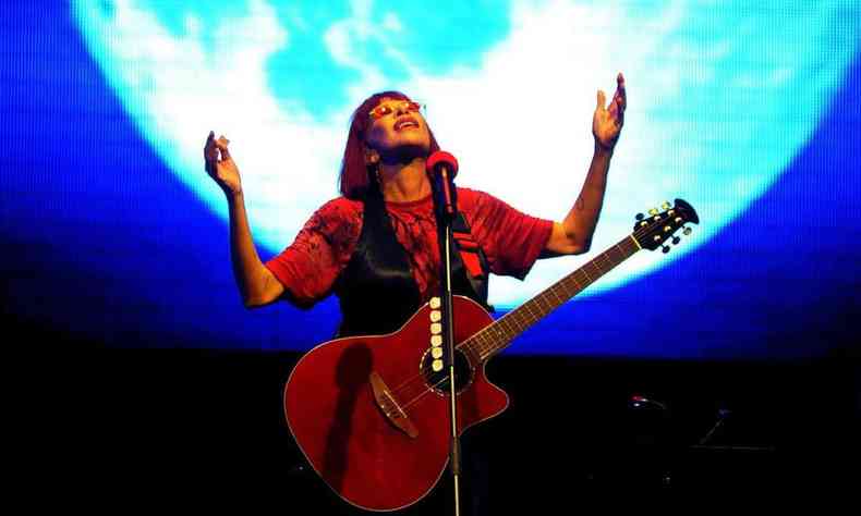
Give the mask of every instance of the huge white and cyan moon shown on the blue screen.
<svg viewBox="0 0 861 516">
<path fill-rule="evenodd" d="M 252 231 L 275 254 L 337 196 L 349 115 L 400 89 L 426 106 L 459 185 L 560 220 L 589 167 L 596 91 L 627 79 L 629 109 L 593 241 L 684 198 L 704 221 L 668 255 L 643 254 L 598 293 L 706 244 L 780 176 L 857 52 L 846 1 L 73 2 L 86 47 L 153 150 L 227 218 L 201 149 L 231 140 Z M 471 5 L 471 4 L 470 4 Z M 780 22 L 773 16 L 780 11 Z M 778 122 L 779 121 L 779 122 Z M 585 262 L 539 261 L 492 282 L 514 306 Z"/>
</svg>

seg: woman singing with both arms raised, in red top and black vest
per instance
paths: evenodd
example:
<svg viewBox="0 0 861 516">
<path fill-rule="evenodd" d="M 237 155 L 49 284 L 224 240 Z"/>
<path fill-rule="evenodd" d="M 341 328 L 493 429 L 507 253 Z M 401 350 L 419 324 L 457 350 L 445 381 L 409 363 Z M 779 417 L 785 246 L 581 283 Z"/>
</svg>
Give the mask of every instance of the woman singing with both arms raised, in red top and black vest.
<svg viewBox="0 0 861 516">
<path fill-rule="evenodd" d="M 464 245 L 456 247 L 456 294 L 487 306 L 489 272 L 522 279 L 538 258 L 589 249 L 623 125 L 621 74 L 609 106 L 605 102 L 598 91 L 592 122 L 594 156 L 583 188 L 562 221 L 533 218 L 488 194 L 458 188 L 460 232 L 468 235 L 466 244 L 477 246 L 459 241 Z M 204 149 L 206 170 L 228 199 L 233 273 L 245 306 L 283 298 L 308 308 L 335 293 L 343 317 L 339 336 L 400 328 L 437 295 L 440 284 L 433 188 L 425 172 L 427 157 L 438 149 L 416 103 L 397 91 L 373 95 L 353 113 L 341 165 L 342 196 L 319 208 L 293 244 L 264 263 L 252 241 L 228 140 L 210 133 Z M 472 477 L 481 480 L 481 474 Z"/>
</svg>

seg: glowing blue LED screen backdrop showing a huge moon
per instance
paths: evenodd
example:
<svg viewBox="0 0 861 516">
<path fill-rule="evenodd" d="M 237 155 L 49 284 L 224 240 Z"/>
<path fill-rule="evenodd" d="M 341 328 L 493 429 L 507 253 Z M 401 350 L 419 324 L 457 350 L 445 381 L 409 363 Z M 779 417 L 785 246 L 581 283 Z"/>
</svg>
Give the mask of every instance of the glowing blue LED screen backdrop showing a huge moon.
<svg viewBox="0 0 861 516">
<path fill-rule="evenodd" d="M 815 356 L 850 342 L 861 257 L 861 2 L 75 1 L 4 5 L 5 311 L 109 346 L 303 351 L 337 302 L 247 311 L 227 206 L 231 139 L 263 258 L 337 196 L 352 109 L 426 105 L 460 186 L 561 219 L 598 88 L 629 109 L 592 250 L 494 278 L 504 312 L 683 198 L 701 224 L 642 251 L 514 353 Z"/>
</svg>

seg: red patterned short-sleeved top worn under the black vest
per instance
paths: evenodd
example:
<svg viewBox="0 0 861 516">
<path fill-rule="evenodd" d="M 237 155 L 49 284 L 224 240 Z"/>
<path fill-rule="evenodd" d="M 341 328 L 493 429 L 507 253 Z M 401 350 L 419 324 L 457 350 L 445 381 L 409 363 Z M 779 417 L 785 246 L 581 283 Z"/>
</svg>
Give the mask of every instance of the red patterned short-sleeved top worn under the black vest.
<svg viewBox="0 0 861 516">
<path fill-rule="evenodd" d="M 482 246 L 490 271 L 523 279 L 550 237 L 553 221 L 524 214 L 496 197 L 458 188 L 458 208 L 473 239 Z M 411 202 L 386 202 L 395 235 L 407 250 L 422 303 L 439 288 L 439 245 L 430 196 Z M 291 300 L 310 308 L 331 294 L 362 234 L 364 205 L 338 197 L 323 205 L 292 245 L 265 265 L 289 291 Z"/>
</svg>

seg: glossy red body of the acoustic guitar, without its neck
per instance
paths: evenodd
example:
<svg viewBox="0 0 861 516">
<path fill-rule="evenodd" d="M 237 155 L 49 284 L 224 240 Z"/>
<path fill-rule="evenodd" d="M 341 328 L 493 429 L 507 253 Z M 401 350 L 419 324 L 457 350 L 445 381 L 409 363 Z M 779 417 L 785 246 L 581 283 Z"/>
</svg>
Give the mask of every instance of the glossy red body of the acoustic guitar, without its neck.
<svg viewBox="0 0 861 516">
<path fill-rule="evenodd" d="M 326 483 L 359 507 L 411 505 L 446 470 L 448 383 L 433 388 L 422 370 L 432 361 L 432 311 L 425 305 L 388 335 L 322 344 L 300 359 L 287 382 L 287 422 L 299 447 Z M 453 312 L 456 344 L 493 322 L 466 297 L 453 297 Z M 508 395 L 487 381 L 484 364 L 468 361 L 470 381 L 458 394 L 460 432 L 508 406 Z"/>
</svg>

